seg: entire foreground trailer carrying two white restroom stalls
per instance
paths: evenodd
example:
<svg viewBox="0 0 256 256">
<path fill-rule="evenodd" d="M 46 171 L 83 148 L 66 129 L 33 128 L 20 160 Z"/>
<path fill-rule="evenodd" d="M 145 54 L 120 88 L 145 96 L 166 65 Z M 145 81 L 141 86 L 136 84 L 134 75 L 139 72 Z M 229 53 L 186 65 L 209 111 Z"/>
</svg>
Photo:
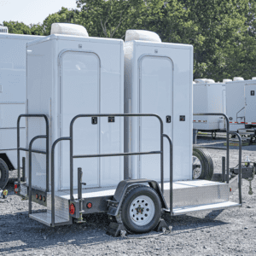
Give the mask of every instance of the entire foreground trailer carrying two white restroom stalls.
<svg viewBox="0 0 256 256">
<path fill-rule="evenodd" d="M 107 212 L 112 219 L 108 234 L 118 236 L 120 230 L 134 233 L 148 232 L 155 227 L 160 230 L 165 225 L 160 220 L 163 211 L 175 216 L 202 210 L 241 207 L 240 171 L 238 182 L 236 179 L 236 184 L 239 184 L 239 203 L 229 200 L 229 154 L 224 183 L 192 179 L 191 46 L 154 43 L 146 49 L 152 57 L 145 58 L 147 72 L 150 67 L 156 86 L 162 74 L 160 67 L 168 64 L 165 70 L 171 71 L 171 79 L 167 76 L 165 78 L 165 84 L 168 83 L 166 88 L 170 86 L 172 91 L 172 95 L 167 95 L 172 96 L 168 100 L 171 102 L 169 106 L 173 106 L 167 109 L 168 113 L 163 112 L 166 105 L 155 109 L 159 112 L 156 114 L 123 113 L 123 99 L 126 99 L 123 95 L 123 79 L 131 79 L 129 74 L 125 73 L 124 76 L 123 73 L 123 63 L 129 61 L 127 55 L 124 61 L 123 41 L 88 38 L 84 28 L 74 25 L 54 24 L 51 33 L 43 40 L 27 44 L 27 112 L 18 119 L 18 159 L 20 151 L 26 150 L 28 168 L 26 182 L 21 183 L 19 178 L 15 183 L 15 193 L 28 195 L 30 218 L 54 227 L 81 223 L 84 214 Z M 152 32 L 137 33 L 138 41 L 158 37 Z M 169 45 L 173 46 L 173 50 Z M 163 56 L 160 63 L 153 63 L 157 65 L 152 70 L 150 61 L 159 61 L 154 59 L 154 56 L 159 58 L 158 54 L 167 57 Z M 181 54 L 186 56 L 183 66 L 179 61 Z M 144 53 L 141 52 L 141 55 Z M 137 61 L 132 65 L 134 63 Z M 137 68 L 132 65 L 125 69 L 131 68 L 136 72 Z M 78 73 L 77 70 L 82 72 Z M 186 77 L 187 73 L 189 77 Z M 133 76 L 133 82 L 139 79 L 138 74 Z M 133 90 L 132 85 L 128 87 L 128 84 L 125 81 L 125 90 Z M 78 90 L 75 86 L 78 86 Z M 92 94 L 95 88 L 99 88 L 100 97 L 97 93 Z M 141 90 L 140 93 L 144 94 L 145 91 Z M 151 94 L 149 98 L 152 96 L 154 103 L 155 95 Z M 177 96 L 183 96 L 184 101 L 179 102 Z M 132 97 L 131 102 L 141 102 L 143 99 Z M 164 100 L 166 104 L 167 97 Z M 98 105 L 92 108 L 94 102 L 98 102 Z M 182 105 L 183 109 L 179 109 Z M 148 108 L 142 111 L 148 112 Z M 20 148 L 19 144 L 19 125 L 23 118 L 28 123 L 26 148 Z M 125 119 L 125 125 L 121 119 Z M 135 119 L 137 125 L 131 126 L 132 119 Z M 150 119 L 151 122 L 143 123 L 143 129 L 139 130 L 138 119 Z M 169 125 L 170 120 L 173 128 L 168 130 L 166 124 Z M 133 128 L 138 131 L 136 138 L 140 147 L 133 145 L 136 142 L 131 137 Z M 184 132 L 186 141 L 179 142 Z M 149 145 L 147 137 L 147 147 L 143 146 L 144 141 L 140 137 L 144 133 L 152 137 L 154 147 Z M 131 152 L 127 149 L 129 137 L 131 148 L 139 150 Z M 156 143 L 157 139 L 159 143 Z M 159 155 L 159 158 L 154 159 L 158 166 L 153 162 L 154 169 L 148 168 L 148 172 L 142 165 L 135 166 L 133 170 L 129 157 L 148 154 L 152 157 L 154 154 Z M 124 168 L 123 158 L 128 167 Z M 20 172 L 20 166 L 18 168 Z M 47 207 L 47 212 L 32 212 L 32 201 Z"/>
</svg>

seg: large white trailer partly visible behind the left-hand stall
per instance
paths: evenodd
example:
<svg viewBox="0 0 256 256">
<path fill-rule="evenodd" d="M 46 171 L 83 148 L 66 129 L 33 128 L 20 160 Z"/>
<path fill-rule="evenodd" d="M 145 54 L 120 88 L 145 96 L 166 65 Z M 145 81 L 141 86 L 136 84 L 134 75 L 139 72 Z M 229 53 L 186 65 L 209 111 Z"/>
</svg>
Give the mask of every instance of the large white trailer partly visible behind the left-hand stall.
<svg viewBox="0 0 256 256">
<path fill-rule="evenodd" d="M 9 171 L 17 168 L 17 118 L 26 112 L 26 43 L 38 38 L 44 37 L 9 34 L 8 27 L 0 26 L 0 189 L 8 182 Z M 25 126 L 23 119 L 23 147 Z"/>
</svg>

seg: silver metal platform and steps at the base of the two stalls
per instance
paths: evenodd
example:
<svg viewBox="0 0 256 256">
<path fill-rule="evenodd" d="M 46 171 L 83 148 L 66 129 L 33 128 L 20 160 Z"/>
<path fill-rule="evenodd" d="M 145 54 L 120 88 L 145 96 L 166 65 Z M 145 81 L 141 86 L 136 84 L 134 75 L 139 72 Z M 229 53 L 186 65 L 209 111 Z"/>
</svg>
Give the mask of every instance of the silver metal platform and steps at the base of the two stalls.
<svg viewBox="0 0 256 256">
<path fill-rule="evenodd" d="M 240 207 L 241 205 L 229 201 L 230 184 L 207 180 L 177 181 L 173 187 L 172 215 L 181 215 L 190 212 Z M 116 187 L 82 189 L 83 199 L 101 201 L 111 199 Z M 233 191 L 232 191 L 233 192 Z M 74 189 L 74 198 L 78 198 L 78 190 Z M 170 183 L 164 183 L 164 197 L 167 207 L 170 207 Z M 70 224 L 69 189 L 55 192 L 55 225 Z M 169 210 L 166 209 L 166 212 Z M 170 212 L 170 211 L 169 211 Z M 47 212 L 33 213 L 30 218 L 51 226 L 51 194 L 47 195 Z"/>
</svg>

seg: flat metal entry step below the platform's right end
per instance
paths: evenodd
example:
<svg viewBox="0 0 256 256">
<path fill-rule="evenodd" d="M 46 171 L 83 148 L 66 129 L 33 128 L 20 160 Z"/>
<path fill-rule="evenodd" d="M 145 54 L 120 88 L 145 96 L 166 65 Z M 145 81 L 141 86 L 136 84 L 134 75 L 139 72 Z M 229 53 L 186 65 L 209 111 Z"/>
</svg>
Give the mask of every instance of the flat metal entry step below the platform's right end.
<svg viewBox="0 0 256 256">
<path fill-rule="evenodd" d="M 230 207 L 241 207 L 241 204 L 238 204 L 233 201 L 224 201 L 220 203 L 214 203 L 214 204 L 207 204 L 207 205 L 198 205 L 198 206 L 189 206 L 189 207 L 180 207 L 180 208 L 174 208 L 172 210 L 172 215 L 182 215 L 187 214 L 190 212 L 200 212 L 200 211 L 207 211 L 207 210 L 218 210 L 218 209 L 225 209 Z M 170 212 L 170 210 L 166 210 L 166 212 Z"/>
</svg>

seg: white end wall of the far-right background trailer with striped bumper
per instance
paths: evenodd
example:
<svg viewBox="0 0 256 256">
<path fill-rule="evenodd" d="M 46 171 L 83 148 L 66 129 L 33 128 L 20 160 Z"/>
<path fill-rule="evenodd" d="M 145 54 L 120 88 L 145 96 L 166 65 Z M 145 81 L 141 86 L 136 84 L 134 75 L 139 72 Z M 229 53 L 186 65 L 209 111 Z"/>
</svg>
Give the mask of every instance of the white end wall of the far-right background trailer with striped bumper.
<svg viewBox="0 0 256 256">
<path fill-rule="evenodd" d="M 245 84 L 244 79 L 239 77 L 226 82 L 226 109 L 230 119 L 230 131 L 245 128 Z"/>
</svg>

